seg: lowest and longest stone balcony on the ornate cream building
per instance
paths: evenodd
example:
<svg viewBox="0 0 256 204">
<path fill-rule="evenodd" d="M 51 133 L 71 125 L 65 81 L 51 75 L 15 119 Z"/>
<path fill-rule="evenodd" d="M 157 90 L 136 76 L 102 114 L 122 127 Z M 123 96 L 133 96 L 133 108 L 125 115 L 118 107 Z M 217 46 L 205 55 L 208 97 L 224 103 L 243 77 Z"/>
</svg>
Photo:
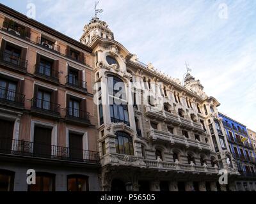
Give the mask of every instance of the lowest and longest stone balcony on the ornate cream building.
<svg viewBox="0 0 256 204">
<path fill-rule="evenodd" d="M 200 166 L 195 164 L 182 164 L 179 162 L 157 161 L 154 159 L 144 159 L 143 157 L 129 156 L 123 154 L 106 154 L 101 158 L 102 166 L 130 166 L 136 168 L 145 168 L 147 170 L 157 171 L 176 171 L 191 173 L 218 174 L 220 168 L 217 166 Z"/>
</svg>

